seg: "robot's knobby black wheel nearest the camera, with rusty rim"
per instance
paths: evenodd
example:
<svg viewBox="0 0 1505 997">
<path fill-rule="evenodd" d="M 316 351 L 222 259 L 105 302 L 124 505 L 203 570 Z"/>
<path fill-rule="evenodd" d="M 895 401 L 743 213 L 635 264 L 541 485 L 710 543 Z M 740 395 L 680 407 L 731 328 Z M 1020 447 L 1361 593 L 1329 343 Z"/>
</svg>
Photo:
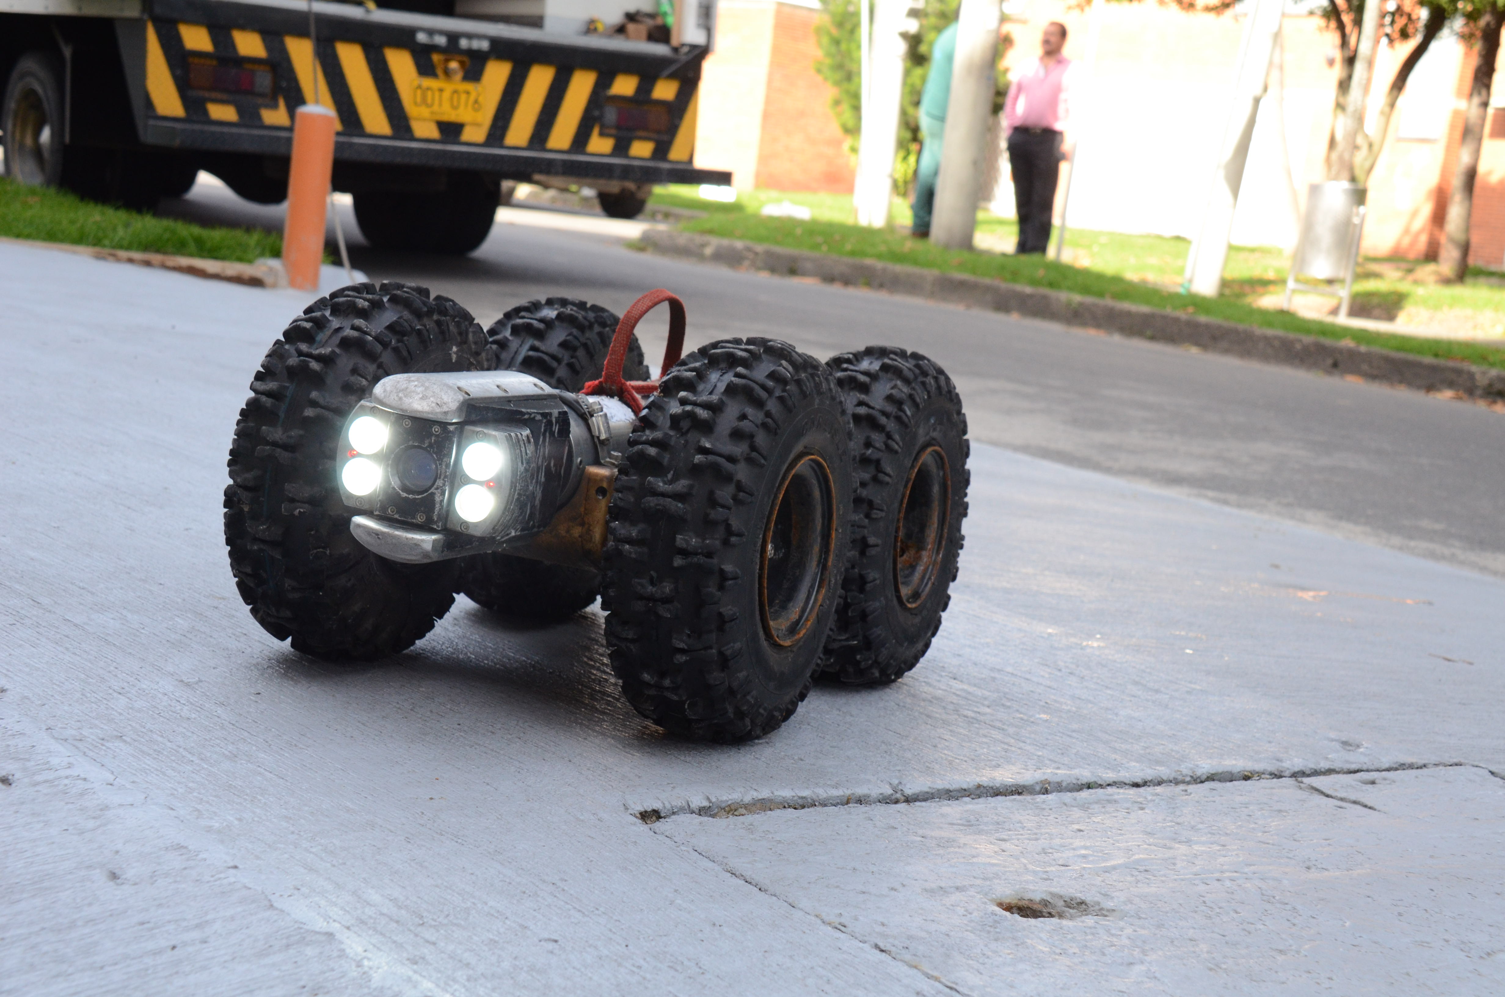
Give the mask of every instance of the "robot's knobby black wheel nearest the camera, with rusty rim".
<svg viewBox="0 0 1505 997">
<path fill-rule="evenodd" d="M 841 584 L 835 378 L 778 340 L 713 342 L 664 378 L 629 444 L 602 560 L 613 670 L 671 733 L 763 736 L 810 691 Z"/>
</svg>

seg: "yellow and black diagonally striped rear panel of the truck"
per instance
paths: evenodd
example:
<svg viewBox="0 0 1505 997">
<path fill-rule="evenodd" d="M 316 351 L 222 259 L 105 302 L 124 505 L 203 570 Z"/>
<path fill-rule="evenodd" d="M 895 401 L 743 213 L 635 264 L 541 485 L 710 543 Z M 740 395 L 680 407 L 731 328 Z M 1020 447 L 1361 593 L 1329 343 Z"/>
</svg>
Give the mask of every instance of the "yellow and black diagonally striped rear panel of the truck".
<svg viewBox="0 0 1505 997">
<path fill-rule="evenodd" d="M 215 77 L 214 72 L 221 75 Z M 185 123 L 290 128 L 290 108 L 315 98 L 333 107 L 345 136 L 461 143 L 501 149 L 689 163 L 695 148 L 698 81 L 585 66 L 439 53 L 319 36 L 318 69 L 309 38 L 184 21 L 146 23 L 149 113 Z M 226 87 L 224 72 L 268 74 Z M 471 84 L 465 87 L 447 84 Z M 420 95 L 464 90 L 464 120 L 435 120 Z M 607 128 L 613 98 L 662 108 L 652 133 Z"/>
</svg>

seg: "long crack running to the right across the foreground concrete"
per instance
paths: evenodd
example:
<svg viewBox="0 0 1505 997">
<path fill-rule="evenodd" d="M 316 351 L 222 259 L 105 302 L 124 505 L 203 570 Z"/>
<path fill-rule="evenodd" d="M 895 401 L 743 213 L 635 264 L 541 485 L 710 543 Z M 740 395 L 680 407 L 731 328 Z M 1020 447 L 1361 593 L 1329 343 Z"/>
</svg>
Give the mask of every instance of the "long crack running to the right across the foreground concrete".
<svg viewBox="0 0 1505 997">
<path fill-rule="evenodd" d="M 926 789 L 905 789 L 900 783 L 888 783 L 885 788 L 874 788 L 870 792 L 810 792 L 810 794 L 771 794 L 766 797 L 746 797 L 740 800 L 679 800 L 664 801 L 652 807 L 628 806 L 628 810 L 644 824 L 655 824 L 671 816 L 704 816 L 704 818 L 734 818 L 769 813 L 772 810 L 813 810 L 820 807 L 864 807 L 892 806 L 900 803 L 938 803 L 954 800 L 989 800 L 993 797 L 1038 797 L 1057 792 L 1087 792 L 1090 789 L 1153 789 L 1157 786 L 1199 786 L 1209 782 L 1252 782 L 1264 779 L 1315 779 L 1320 776 L 1362 776 L 1370 773 L 1403 773 L 1428 768 L 1458 768 L 1475 767 L 1472 762 L 1403 762 L 1398 765 L 1351 765 L 1326 768 L 1270 768 L 1270 770 L 1219 770 L 1207 773 L 1168 773 L 1165 776 L 1148 776 L 1142 779 L 1037 779 L 1031 782 L 978 782 L 959 786 L 930 786 Z M 1488 770 L 1487 770 L 1488 771 Z M 1490 773 L 1505 777 L 1499 773 Z M 1312 786 L 1315 791 L 1315 786 Z M 1321 792 L 1321 791 L 1317 791 Z M 1327 795 L 1327 794 L 1323 794 Z M 1348 801 L 1345 803 L 1358 803 Z M 1368 806 L 1359 803 L 1358 806 Z M 1370 807 L 1371 810 L 1374 807 Z"/>
</svg>

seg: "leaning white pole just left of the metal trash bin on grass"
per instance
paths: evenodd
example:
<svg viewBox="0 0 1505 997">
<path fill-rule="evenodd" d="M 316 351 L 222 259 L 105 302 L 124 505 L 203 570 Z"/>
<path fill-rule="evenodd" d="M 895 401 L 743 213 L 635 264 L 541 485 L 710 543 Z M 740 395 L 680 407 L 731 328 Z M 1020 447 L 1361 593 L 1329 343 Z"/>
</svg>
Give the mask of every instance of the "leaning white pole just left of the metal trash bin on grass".
<svg viewBox="0 0 1505 997">
<path fill-rule="evenodd" d="M 1218 169 L 1213 170 L 1209 185 L 1202 221 L 1186 256 L 1183 291 L 1216 298 L 1222 288 L 1233 212 L 1239 206 L 1243 167 L 1249 160 L 1249 140 L 1254 137 L 1254 120 L 1260 113 L 1260 99 L 1270 75 L 1270 57 L 1275 54 L 1275 38 L 1281 30 L 1282 14 L 1284 0 L 1254 0 L 1254 9 L 1245 21 L 1228 125 L 1224 128 L 1218 151 Z"/>
</svg>

